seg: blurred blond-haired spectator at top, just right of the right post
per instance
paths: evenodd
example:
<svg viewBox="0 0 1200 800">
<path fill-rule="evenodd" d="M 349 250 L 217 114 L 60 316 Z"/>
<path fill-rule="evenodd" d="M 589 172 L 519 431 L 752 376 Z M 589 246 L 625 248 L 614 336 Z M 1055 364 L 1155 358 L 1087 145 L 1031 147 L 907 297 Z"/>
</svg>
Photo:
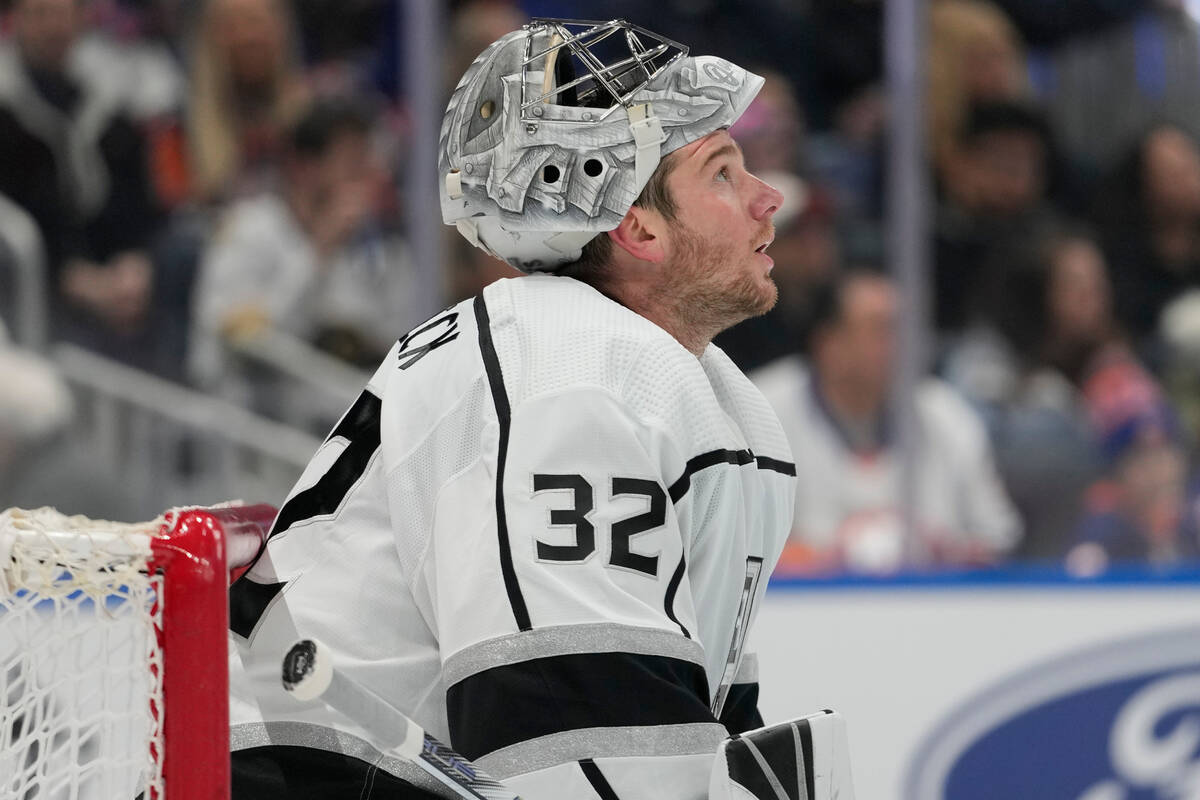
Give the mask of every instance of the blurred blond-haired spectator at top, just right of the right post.
<svg viewBox="0 0 1200 800">
<path fill-rule="evenodd" d="M 946 172 L 972 106 L 1027 94 L 1020 35 L 984 0 L 935 0 L 930 8 L 929 142 L 935 169 Z"/>
</svg>

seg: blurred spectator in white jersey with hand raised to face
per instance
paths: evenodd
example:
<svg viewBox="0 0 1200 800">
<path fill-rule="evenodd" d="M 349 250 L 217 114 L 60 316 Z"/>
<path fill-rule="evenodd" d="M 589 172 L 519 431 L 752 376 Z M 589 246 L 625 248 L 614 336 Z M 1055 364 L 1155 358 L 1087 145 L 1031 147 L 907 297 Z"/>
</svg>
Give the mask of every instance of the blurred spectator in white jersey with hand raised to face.
<svg viewBox="0 0 1200 800">
<path fill-rule="evenodd" d="M 234 204 L 204 257 L 194 367 L 223 371 L 220 342 L 275 329 L 376 366 L 413 319 L 403 242 L 383 227 L 390 184 L 371 118 L 348 100 L 317 101 L 288 134 L 282 193 Z"/>
</svg>

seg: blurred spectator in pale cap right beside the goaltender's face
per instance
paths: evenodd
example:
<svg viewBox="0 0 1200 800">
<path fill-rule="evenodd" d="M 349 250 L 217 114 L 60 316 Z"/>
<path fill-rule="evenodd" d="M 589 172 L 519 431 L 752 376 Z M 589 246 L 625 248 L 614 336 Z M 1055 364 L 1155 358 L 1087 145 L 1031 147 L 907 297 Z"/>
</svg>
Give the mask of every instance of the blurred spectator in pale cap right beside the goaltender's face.
<svg viewBox="0 0 1200 800">
<path fill-rule="evenodd" d="M 775 307 L 716 337 L 715 343 L 742 369 L 761 367 L 796 353 L 811 317 L 812 288 L 833 278 L 841 266 L 841 246 L 829 198 L 791 173 L 760 173 L 778 188 L 784 203 L 775 212 L 772 277 L 779 287 Z"/>
</svg>

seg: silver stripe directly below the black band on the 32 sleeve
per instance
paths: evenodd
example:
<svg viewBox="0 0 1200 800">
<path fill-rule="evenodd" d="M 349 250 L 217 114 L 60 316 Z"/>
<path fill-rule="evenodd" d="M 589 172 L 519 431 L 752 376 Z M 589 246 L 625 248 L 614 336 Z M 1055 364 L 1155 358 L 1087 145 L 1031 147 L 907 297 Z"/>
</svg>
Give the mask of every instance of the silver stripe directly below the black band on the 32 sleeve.
<svg viewBox="0 0 1200 800">
<path fill-rule="evenodd" d="M 712 754 L 728 735 L 725 726 L 716 722 L 580 728 L 509 745 L 476 758 L 475 763 L 503 781 L 582 758 Z"/>
</svg>

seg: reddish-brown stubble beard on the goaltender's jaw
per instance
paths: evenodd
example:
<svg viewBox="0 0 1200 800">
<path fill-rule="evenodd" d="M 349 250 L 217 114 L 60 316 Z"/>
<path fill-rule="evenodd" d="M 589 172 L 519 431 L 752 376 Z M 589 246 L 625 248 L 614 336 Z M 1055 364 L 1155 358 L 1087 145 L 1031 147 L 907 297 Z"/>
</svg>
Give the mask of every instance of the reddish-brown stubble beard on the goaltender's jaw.
<svg viewBox="0 0 1200 800">
<path fill-rule="evenodd" d="M 712 339 L 774 308 L 779 299 L 774 279 L 744 267 L 746 255 L 740 242 L 679 225 L 674 243 L 662 299 L 689 330 Z"/>
</svg>

